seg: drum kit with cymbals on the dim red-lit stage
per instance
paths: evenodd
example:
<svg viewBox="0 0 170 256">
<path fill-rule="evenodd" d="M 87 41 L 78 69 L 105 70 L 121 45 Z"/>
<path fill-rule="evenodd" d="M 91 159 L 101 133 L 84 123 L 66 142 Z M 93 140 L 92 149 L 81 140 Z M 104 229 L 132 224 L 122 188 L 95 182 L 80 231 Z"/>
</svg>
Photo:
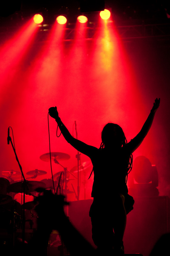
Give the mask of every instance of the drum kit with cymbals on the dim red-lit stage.
<svg viewBox="0 0 170 256">
<path fill-rule="evenodd" d="M 77 181 L 79 172 L 84 174 L 85 180 L 85 172 L 91 166 L 90 162 L 83 162 L 68 171 L 59 161 L 68 160 L 70 156 L 62 152 L 46 153 L 41 155 L 40 159 L 44 162 L 52 161 L 55 164 L 59 164 L 63 167 L 63 172 L 55 173 L 51 179 L 37 181 L 34 179 L 47 174 L 47 172 L 38 169 L 28 171 L 26 172 L 27 178 L 25 179 L 24 177 L 24 179 L 21 180 L 22 168 L 20 168 L 21 172 L 14 170 L 0 171 L 0 219 L 2 220 L 0 221 L 0 226 L 4 228 L 4 230 L 7 230 L 7 233 L 12 233 L 13 237 L 17 236 L 16 233 L 22 233 L 22 241 L 25 241 L 25 236 L 27 236 L 30 230 L 33 231 L 33 229 L 36 229 L 38 216 L 35 211 L 36 202 L 34 198 L 40 195 L 38 188 L 39 190 L 40 188 L 51 189 L 57 194 L 59 189 L 59 193 L 64 196 L 72 193 L 75 193 L 76 196 L 73 185 L 71 184 L 73 188 L 73 191 L 71 191 L 68 189 L 67 184 L 71 180 Z M 83 184 L 85 191 L 85 181 Z M 34 225 L 33 229 L 32 225 Z M 1 233 L 2 231 L 0 231 L 0 234 Z"/>
</svg>

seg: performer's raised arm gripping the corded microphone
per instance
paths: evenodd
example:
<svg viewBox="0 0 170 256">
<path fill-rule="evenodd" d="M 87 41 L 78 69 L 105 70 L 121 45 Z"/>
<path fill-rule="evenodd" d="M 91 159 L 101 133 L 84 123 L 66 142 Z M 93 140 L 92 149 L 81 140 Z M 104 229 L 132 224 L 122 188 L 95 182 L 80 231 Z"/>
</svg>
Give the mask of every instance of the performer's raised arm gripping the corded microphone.
<svg viewBox="0 0 170 256">
<path fill-rule="evenodd" d="M 77 149 L 78 151 L 80 151 L 81 153 L 91 157 L 94 153 L 95 150 L 97 150 L 97 148 L 93 147 L 93 146 L 89 146 L 86 143 L 75 139 L 70 132 L 68 131 L 68 129 L 66 128 L 66 126 L 63 124 L 63 122 L 61 121 L 61 119 L 58 116 L 58 111 L 57 111 L 57 107 L 52 107 L 49 108 L 49 114 L 51 117 L 53 117 L 57 124 L 58 127 L 60 128 L 60 131 L 62 132 L 64 138 L 66 139 L 66 141 L 68 143 L 70 143 L 75 149 Z"/>
</svg>

